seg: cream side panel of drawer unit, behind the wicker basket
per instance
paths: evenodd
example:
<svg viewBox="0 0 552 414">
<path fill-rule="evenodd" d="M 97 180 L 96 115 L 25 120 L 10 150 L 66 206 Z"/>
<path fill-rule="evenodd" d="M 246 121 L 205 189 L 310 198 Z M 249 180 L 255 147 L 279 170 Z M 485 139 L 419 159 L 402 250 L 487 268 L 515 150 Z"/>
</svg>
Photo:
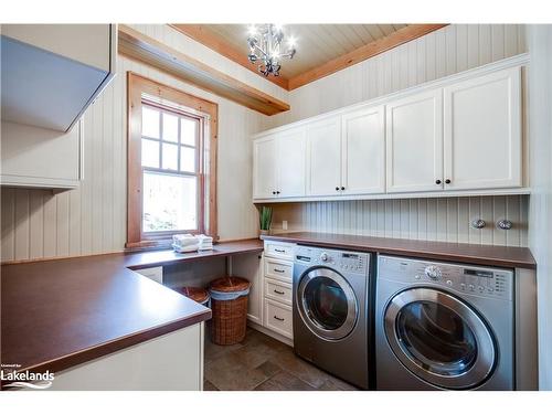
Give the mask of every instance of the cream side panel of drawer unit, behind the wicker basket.
<svg viewBox="0 0 552 414">
<path fill-rule="evenodd" d="M 247 319 L 263 325 L 263 256 L 241 254 L 232 258 L 232 274 L 251 283 L 247 299 Z"/>
</svg>

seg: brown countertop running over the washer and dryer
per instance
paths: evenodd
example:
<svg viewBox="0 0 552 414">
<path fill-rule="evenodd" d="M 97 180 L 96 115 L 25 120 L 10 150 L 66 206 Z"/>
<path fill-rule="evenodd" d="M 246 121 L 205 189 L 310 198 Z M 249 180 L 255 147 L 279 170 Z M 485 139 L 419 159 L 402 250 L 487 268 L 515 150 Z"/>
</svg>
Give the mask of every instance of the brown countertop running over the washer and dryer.
<svg viewBox="0 0 552 414">
<path fill-rule="evenodd" d="M 307 232 L 264 235 L 262 238 L 476 265 L 537 268 L 537 263 L 527 247 L 486 246 Z"/>
</svg>

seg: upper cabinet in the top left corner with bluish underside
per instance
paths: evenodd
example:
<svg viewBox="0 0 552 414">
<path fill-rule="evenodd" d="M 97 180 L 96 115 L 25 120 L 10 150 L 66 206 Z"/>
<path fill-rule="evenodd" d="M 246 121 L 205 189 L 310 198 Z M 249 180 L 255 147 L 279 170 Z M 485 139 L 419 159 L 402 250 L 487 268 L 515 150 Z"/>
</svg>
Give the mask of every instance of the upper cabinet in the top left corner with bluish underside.
<svg viewBox="0 0 552 414">
<path fill-rule="evenodd" d="M 115 24 L 3 24 L 2 120 L 68 131 L 115 75 Z"/>
</svg>

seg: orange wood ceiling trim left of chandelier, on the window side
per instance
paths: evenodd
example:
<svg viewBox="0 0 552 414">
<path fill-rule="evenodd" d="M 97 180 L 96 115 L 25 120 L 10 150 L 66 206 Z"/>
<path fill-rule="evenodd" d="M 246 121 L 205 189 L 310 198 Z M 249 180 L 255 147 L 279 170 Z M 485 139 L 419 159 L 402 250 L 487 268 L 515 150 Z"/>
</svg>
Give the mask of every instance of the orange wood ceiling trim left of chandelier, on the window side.
<svg viewBox="0 0 552 414">
<path fill-rule="evenodd" d="M 211 31 L 204 28 L 203 24 L 169 24 L 172 29 L 178 30 L 182 34 L 193 39 L 194 41 L 208 46 L 209 49 L 215 51 L 219 54 L 230 59 L 231 61 L 242 65 L 243 67 L 252 71 L 253 73 L 263 76 L 258 70 L 257 65 L 252 64 L 246 55 L 245 51 L 236 49 L 229 42 L 213 34 Z M 244 39 L 245 42 L 245 39 Z M 245 44 L 245 43 L 244 43 Z M 288 79 L 284 76 L 263 76 L 265 79 L 283 87 L 288 91 Z"/>
</svg>

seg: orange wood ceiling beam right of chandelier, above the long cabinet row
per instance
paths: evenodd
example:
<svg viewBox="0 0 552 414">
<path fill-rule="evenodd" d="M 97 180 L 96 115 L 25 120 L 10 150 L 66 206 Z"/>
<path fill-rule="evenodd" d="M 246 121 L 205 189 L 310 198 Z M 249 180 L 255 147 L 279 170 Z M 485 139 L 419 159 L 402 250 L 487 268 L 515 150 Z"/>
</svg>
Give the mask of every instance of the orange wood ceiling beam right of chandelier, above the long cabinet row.
<svg viewBox="0 0 552 414">
<path fill-rule="evenodd" d="M 367 59 L 373 57 L 380 53 L 389 51 L 390 49 L 421 38 L 446 25 L 447 24 L 408 24 L 407 26 L 400 29 L 385 38 L 368 43 L 359 49 L 355 49 L 354 51 L 326 62 L 320 66 L 314 67 L 310 71 L 289 78 L 288 91 L 296 89 L 310 82 L 331 75 L 332 73 L 365 61 Z"/>
</svg>

